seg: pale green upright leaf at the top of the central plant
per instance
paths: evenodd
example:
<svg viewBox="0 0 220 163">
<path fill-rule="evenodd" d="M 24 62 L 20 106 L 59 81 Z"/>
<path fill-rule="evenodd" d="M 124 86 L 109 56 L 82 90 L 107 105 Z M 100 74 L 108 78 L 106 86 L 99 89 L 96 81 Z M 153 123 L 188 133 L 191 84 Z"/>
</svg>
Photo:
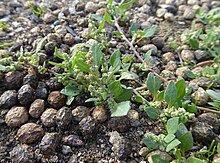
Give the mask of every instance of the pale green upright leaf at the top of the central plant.
<svg viewBox="0 0 220 163">
<path fill-rule="evenodd" d="M 101 65 L 104 54 L 102 53 L 98 44 L 93 44 L 91 47 L 92 56 L 95 60 L 96 65 L 99 67 Z"/>
</svg>

